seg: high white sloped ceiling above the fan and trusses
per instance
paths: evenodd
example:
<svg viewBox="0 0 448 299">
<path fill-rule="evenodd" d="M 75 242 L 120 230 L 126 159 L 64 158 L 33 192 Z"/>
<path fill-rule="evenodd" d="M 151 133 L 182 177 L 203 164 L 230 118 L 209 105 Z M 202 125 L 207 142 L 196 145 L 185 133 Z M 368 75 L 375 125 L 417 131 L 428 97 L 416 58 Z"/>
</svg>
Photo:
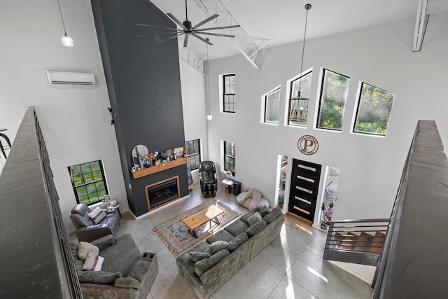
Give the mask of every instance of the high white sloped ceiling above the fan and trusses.
<svg viewBox="0 0 448 299">
<path fill-rule="evenodd" d="M 185 0 L 151 0 L 164 13 L 185 20 Z M 204 0 L 187 0 L 188 19 L 195 25 L 208 17 L 197 5 Z M 209 0 L 210 1 L 210 0 Z M 212 0 L 220 1 L 220 0 Z M 303 40 L 305 4 L 308 13 L 307 40 L 332 34 L 416 18 L 419 0 L 221 0 L 235 20 L 253 38 L 269 39 L 265 47 Z M 448 11 L 447 0 L 428 0 L 427 13 Z M 213 21 L 202 28 L 216 27 Z M 238 55 L 230 39 L 209 36 L 209 59 Z M 183 37 L 179 38 L 180 48 Z M 188 47 L 195 53 L 207 53 L 207 45 L 190 37 Z"/>
</svg>

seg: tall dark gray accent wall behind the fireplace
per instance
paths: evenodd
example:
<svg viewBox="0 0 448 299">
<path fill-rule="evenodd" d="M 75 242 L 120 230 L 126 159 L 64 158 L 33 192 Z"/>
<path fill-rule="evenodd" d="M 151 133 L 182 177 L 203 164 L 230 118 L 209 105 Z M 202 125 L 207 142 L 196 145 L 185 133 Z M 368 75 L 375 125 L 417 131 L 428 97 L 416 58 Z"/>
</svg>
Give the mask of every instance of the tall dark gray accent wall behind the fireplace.
<svg viewBox="0 0 448 299">
<path fill-rule="evenodd" d="M 92 0 L 92 10 L 127 200 L 134 215 L 140 216 L 148 212 L 144 187 L 151 183 L 179 175 L 181 197 L 188 195 L 186 165 L 139 179 L 130 173 L 131 151 L 137 144 L 146 146 L 150 153 L 185 146 L 177 39 L 155 45 L 168 37 L 160 30 L 167 30 L 135 23 L 176 26 L 147 0 Z M 149 35 L 137 37 L 139 34 Z"/>
</svg>

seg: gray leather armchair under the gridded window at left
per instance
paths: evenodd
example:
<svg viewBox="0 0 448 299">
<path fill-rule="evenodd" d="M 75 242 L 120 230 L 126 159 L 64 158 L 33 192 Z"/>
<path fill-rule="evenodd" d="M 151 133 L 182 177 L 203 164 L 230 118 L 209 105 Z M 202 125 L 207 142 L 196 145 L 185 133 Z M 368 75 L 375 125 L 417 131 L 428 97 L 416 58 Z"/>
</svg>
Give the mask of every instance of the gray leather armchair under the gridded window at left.
<svg viewBox="0 0 448 299">
<path fill-rule="evenodd" d="M 103 209 L 106 212 L 106 217 L 95 224 L 92 219 L 87 215 L 92 210 L 85 204 L 76 204 L 71 209 L 70 219 L 73 225 L 76 227 L 76 237 L 78 241 L 92 242 L 95 239 L 104 237 L 106 235 L 112 235 L 117 237 L 118 225 L 120 224 L 120 214 L 118 209 L 115 211 L 107 212 L 107 209 Z"/>
</svg>

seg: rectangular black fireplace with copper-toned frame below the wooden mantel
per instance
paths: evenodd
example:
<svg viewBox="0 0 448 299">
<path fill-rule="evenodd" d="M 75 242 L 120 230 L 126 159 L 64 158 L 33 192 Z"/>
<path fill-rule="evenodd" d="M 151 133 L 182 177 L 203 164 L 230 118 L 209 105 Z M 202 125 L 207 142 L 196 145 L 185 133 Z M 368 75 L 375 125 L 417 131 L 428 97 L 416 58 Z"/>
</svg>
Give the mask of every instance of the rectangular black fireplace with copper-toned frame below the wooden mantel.
<svg viewBox="0 0 448 299">
<path fill-rule="evenodd" d="M 159 207 L 162 204 L 179 199 L 179 176 L 166 179 L 146 186 L 146 200 L 148 201 L 148 210 Z"/>
</svg>

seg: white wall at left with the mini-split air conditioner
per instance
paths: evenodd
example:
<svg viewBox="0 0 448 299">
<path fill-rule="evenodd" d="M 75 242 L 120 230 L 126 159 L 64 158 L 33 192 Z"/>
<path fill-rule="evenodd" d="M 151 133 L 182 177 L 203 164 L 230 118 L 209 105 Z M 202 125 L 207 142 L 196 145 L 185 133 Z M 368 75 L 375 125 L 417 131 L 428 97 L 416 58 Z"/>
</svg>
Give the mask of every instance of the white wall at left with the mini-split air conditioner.
<svg viewBox="0 0 448 299">
<path fill-rule="evenodd" d="M 60 4 L 73 48 L 60 41 L 64 31 L 57 1 L 0 2 L 0 127 L 7 127 L 13 139 L 27 107 L 36 107 L 62 216 L 71 231 L 76 199 L 69 165 L 102 159 L 111 197 L 121 202 L 121 211 L 128 205 L 90 1 Z M 45 70 L 92 72 L 97 85 L 49 85 Z"/>
</svg>

